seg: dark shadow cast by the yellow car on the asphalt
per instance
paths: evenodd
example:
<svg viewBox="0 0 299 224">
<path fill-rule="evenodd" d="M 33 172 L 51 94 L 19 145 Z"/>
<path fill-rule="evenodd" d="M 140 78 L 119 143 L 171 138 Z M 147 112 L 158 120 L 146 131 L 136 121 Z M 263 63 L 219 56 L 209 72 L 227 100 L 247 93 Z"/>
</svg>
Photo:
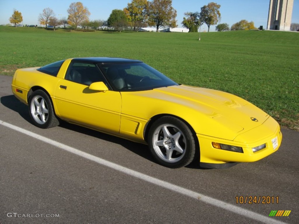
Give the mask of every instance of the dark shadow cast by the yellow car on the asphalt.
<svg viewBox="0 0 299 224">
<path fill-rule="evenodd" d="M 2 105 L 4 105 L 5 107 L 19 113 L 19 115 L 25 119 L 27 122 L 29 122 L 31 124 L 31 119 L 29 116 L 29 111 L 28 111 L 28 106 L 26 106 L 25 104 L 23 104 L 22 102 L 20 102 L 14 95 L 9 95 L 9 96 L 2 96 L 0 98 L 0 102 Z M 74 125 L 74 124 L 70 124 L 67 122 L 60 122 L 59 127 L 61 128 L 65 128 L 71 131 L 76 131 L 79 132 L 81 134 L 85 134 L 85 135 L 89 135 L 98 139 L 102 139 L 105 141 L 109 141 L 109 142 L 113 142 L 115 144 L 119 144 L 121 146 L 123 146 L 124 148 L 128 149 L 129 151 L 139 155 L 140 157 L 143 157 L 151 162 L 156 163 L 155 159 L 152 157 L 152 154 L 150 153 L 148 146 L 141 144 L 141 143 L 136 143 L 136 142 L 132 142 L 126 139 L 122 139 L 116 136 L 112 136 L 109 134 L 105 134 L 99 131 L 95 131 L 89 128 L 84 128 L 81 127 L 79 125 Z M 198 156 L 198 155 L 196 155 Z M 187 165 L 187 168 L 193 168 L 193 169 L 202 169 L 199 167 L 199 158 L 194 159 L 194 161 Z"/>
</svg>

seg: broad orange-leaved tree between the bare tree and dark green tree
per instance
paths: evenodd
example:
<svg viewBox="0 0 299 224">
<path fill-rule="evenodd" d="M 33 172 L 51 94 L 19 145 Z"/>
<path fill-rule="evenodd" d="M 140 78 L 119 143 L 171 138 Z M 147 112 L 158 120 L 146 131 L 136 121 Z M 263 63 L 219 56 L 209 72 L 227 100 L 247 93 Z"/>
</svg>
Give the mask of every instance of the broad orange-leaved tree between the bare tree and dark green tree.
<svg viewBox="0 0 299 224">
<path fill-rule="evenodd" d="M 75 26 L 76 30 L 80 23 L 89 19 L 89 16 L 90 12 L 81 2 L 73 2 L 70 4 L 68 8 L 68 23 Z"/>
</svg>

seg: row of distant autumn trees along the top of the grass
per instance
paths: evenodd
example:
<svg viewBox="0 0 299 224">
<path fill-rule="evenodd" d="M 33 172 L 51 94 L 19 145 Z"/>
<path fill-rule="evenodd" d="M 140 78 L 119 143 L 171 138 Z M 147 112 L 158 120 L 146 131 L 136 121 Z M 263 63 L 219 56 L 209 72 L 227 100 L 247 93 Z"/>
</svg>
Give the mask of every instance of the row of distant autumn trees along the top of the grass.
<svg viewBox="0 0 299 224">
<path fill-rule="evenodd" d="M 216 31 L 256 29 L 254 22 L 248 22 L 245 19 L 233 24 L 231 27 L 227 23 L 218 23 L 221 20 L 220 7 L 221 5 L 210 2 L 201 7 L 200 12 L 186 12 L 181 24 L 189 29 L 189 32 L 198 32 L 202 24 L 208 26 L 208 32 L 210 31 L 210 26 L 216 24 Z M 83 29 L 94 30 L 99 30 L 100 28 L 103 30 L 106 27 L 107 29 L 120 32 L 122 30 L 138 31 L 140 28 L 147 26 L 155 27 L 156 31 L 161 27 L 177 27 L 177 12 L 172 7 L 172 0 L 132 0 L 123 10 L 112 10 L 107 20 L 90 21 L 90 12 L 81 2 L 71 3 L 67 12 L 67 18 L 58 19 L 51 8 L 45 8 L 39 14 L 38 20 L 46 28 L 50 25 L 54 30 L 60 25 L 63 25 L 64 28 L 71 26 L 77 29 L 80 26 Z M 22 21 L 22 13 L 14 9 L 10 22 L 16 26 Z M 298 31 L 299 24 L 292 23 L 290 30 Z"/>
</svg>

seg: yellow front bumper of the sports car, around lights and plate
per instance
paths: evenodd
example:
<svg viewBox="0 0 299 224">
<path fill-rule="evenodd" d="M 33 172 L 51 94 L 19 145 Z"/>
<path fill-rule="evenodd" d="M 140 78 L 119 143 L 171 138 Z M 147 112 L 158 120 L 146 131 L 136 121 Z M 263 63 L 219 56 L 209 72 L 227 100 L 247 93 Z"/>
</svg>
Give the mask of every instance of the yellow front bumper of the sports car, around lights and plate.
<svg viewBox="0 0 299 224">
<path fill-rule="evenodd" d="M 231 166 L 234 162 L 255 162 L 263 159 L 278 150 L 282 134 L 280 126 L 271 117 L 263 124 L 236 136 L 234 141 L 214 138 L 202 134 L 196 134 L 200 147 L 200 162 L 203 167 L 223 167 Z M 277 147 L 273 147 L 272 139 L 277 137 Z M 212 146 L 212 142 L 219 142 L 226 145 L 234 145 L 243 148 L 243 153 L 217 149 Z M 253 152 L 252 148 L 266 144 L 266 148 Z M 226 164 L 226 165 L 225 165 Z M 209 167 L 211 166 L 211 167 Z"/>
</svg>

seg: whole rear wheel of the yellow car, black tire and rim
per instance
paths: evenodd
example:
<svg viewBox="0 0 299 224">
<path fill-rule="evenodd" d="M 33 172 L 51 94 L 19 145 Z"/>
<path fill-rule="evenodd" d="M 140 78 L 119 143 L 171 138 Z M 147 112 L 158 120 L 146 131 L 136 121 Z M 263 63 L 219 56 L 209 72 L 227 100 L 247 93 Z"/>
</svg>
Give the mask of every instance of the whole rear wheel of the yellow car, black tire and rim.
<svg viewBox="0 0 299 224">
<path fill-rule="evenodd" d="M 59 125 L 51 99 L 44 91 L 34 91 L 29 97 L 28 106 L 30 118 L 35 126 L 52 128 Z"/>
</svg>

